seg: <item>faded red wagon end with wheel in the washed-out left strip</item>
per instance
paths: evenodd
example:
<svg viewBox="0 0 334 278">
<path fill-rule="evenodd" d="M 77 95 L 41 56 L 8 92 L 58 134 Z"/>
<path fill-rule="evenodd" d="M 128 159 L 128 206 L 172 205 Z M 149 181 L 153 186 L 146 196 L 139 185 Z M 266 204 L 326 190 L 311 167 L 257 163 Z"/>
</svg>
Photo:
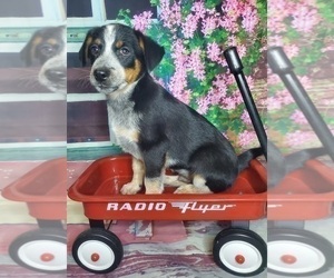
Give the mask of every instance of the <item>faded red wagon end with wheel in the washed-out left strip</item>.
<svg viewBox="0 0 334 278">
<path fill-rule="evenodd" d="M 67 269 L 67 235 L 62 226 L 67 215 L 66 169 L 66 158 L 49 160 L 2 190 L 4 198 L 27 202 L 29 215 L 39 226 L 9 246 L 9 256 L 22 267 L 48 274 Z"/>
</svg>

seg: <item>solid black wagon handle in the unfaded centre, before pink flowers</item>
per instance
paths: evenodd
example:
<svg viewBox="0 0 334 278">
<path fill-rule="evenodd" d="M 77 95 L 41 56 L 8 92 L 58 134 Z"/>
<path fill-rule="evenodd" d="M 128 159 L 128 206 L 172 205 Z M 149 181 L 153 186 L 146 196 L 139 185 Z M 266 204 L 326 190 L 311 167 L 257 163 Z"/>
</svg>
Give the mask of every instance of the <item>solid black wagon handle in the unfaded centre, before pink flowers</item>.
<svg viewBox="0 0 334 278">
<path fill-rule="evenodd" d="M 243 72 L 243 63 L 238 56 L 236 47 L 227 48 L 224 51 L 224 57 L 227 61 L 228 68 L 230 72 L 234 75 L 242 97 L 244 99 L 246 109 L 249 113 L 253 127 L 255 129 L 256 136 L 258 138 L 259 145 L 262 147 L 263 153 L 267 159 L 267 135 L 261 121 L 258 111 L 254 103 L 254 99 L 252 97 L 248 83 L 246 81 L 245 75 Z"/>
</svg>

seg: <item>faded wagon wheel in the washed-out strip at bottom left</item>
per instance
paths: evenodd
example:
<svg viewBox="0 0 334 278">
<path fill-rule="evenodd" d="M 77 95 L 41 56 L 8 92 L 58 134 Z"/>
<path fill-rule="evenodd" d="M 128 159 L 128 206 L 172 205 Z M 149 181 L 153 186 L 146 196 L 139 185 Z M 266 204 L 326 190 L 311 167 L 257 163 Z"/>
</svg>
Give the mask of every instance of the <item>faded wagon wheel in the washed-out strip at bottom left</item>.
<svg viewBox="0 0 334 278">
<path fill-rule="evenodd" d="M 48 274 L 67 269 L 65 230 L 39 229 L 24 232 L 9 246 L 9 256 L 18 265 Z"/>
</svg>

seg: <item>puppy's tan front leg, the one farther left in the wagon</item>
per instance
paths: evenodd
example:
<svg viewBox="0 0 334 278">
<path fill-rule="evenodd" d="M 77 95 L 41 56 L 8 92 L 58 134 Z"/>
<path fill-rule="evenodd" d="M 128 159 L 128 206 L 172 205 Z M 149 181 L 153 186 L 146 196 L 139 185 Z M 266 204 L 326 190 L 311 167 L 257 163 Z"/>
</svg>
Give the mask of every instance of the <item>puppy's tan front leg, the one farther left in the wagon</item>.
<svg viewBox="0 0 334 278">
<path fill-rule="evenodd" d="M 132 157 L 132 180 L 129 183 L 124 185 L 120 190 L 122 195 L 135 195 L 141 189 L 145 175 L 145 167 L 143 161 L 135 157 Z"/>
</svg>

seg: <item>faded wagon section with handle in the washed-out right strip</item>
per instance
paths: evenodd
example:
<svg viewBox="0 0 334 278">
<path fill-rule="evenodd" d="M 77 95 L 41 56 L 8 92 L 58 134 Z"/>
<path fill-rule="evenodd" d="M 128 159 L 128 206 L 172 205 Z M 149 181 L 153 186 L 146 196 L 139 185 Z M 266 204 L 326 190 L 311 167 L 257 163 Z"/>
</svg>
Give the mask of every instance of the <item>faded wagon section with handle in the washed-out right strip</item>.
<svg viewBox="0 0 334 278">
<path fill-rule="evenodd" d="M 333 135 L 298 82 L 283 49 L 269 49 L 268 62 L 305 115 L 325 153 L 334 161 Z M 268 271 L 293 277 L 313 276 L 334 266 L 333 242 L 304 229 L 305 220 L 331 217 L 333 201 L 333 168 L 316 159 L 304 161 L 268 189 Z"/>
</svg>

